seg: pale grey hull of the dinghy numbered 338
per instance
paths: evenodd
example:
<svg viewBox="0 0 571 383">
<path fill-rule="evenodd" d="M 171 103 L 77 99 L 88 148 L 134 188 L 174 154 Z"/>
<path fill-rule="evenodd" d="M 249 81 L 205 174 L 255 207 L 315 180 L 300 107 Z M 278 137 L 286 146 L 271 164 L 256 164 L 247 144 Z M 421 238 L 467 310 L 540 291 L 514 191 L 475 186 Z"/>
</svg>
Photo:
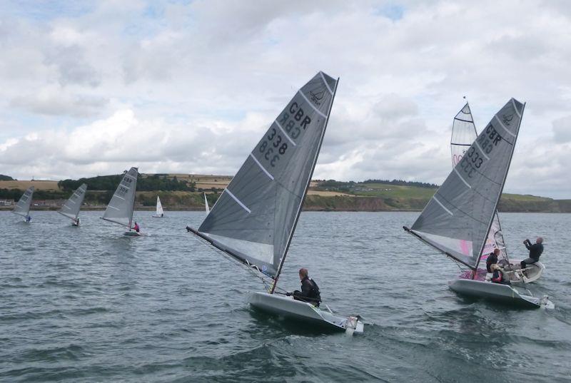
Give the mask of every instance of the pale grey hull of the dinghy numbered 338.
<svg viewBox="0 0 571 383">
<path fill-rule="evenodd" d="M 333 312 L 322 310 L 308 302 L 293 300 L 293 297 L 284 297 L 266 292 L 253 292 L 249 297 L 249 303 L 257 309 L 282 315 L 283 317 L 311 322 L 315 325 L 350 333 L 363 332 L 363 322 L 358 320 L 358 318 L 335 315 Z"/>
</svg>

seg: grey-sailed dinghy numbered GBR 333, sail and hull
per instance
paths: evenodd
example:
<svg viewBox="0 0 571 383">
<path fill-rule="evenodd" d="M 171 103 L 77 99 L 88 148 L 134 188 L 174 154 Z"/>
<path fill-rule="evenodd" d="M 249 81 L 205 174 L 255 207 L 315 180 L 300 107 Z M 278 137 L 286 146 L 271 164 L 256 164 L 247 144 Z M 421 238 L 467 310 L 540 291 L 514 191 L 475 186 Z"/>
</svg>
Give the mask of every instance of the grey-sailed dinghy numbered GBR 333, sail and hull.
<svg viewBox="0 0 571 383">
<path fill-rule="evenodd" d="M 510 285 L 488 282 L 477 267 L 510 168 L 525 105 L 512 98 L 466 150 L 448 178 L 405 231 L 468 266 L 449 282 L 451 290 L 472 297 L 525 307 L 555 307 L 546 296 L 525 295 Z M 527 292 L 527 291 L 526 291 Z"/>
</svg>

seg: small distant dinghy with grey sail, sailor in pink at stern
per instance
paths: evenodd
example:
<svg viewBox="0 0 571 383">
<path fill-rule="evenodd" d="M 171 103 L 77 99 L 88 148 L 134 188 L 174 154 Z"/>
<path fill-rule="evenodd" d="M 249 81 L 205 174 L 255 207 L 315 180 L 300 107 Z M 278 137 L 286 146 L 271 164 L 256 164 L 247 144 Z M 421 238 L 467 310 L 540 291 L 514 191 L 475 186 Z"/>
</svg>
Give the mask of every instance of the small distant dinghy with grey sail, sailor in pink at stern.
<svg viewBox="0 0 571 383">
<path fill-rule="evenodd" d="M 142 235 L 132 230 L 137 176 L 137 168 L 131 168 L 128 172 L 123 174 L 121 183 L 117 186 L 117 190 L 113 193 L 113 197 L 111 197 L 105 213 L 103 213 L 103 217 L 101 217 L 102 220 L 126 226 L 127 230 L 123 234 L 133 237 Z"/>
</svg>

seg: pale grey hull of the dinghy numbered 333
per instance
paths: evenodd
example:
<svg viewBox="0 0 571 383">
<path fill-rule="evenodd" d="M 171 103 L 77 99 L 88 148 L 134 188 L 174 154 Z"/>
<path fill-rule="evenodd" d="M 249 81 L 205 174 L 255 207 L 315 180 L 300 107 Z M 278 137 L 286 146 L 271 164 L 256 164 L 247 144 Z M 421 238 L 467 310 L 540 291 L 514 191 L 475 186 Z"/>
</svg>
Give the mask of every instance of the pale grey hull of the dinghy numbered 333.
<svg viewBox="0 0 571 383">
<path fill-rule="evenodd" d="M 450 290 L 461 295 L 483 298 L 493 302 L 502 302 L 523 307 L 555 307 L 547 297 L 537 298 L 531 295 L 522 295 L 509 285 L 480 280 L 455 279 L 448 282 Z M 552 307 L 550 307 L 552 306 Z"/>
</svg>

